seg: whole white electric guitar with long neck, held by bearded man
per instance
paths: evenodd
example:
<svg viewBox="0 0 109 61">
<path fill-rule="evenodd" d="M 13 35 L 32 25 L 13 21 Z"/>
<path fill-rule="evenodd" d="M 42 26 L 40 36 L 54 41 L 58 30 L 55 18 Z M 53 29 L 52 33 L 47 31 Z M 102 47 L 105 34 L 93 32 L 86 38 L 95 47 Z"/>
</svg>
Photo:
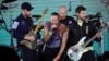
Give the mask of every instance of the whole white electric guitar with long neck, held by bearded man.
<svg viewBox="0 0 109 61">
<path fill-rule="evenodd" d="M 84 40 L 86 39 L 86 37 L 82 37 L 76 45 L 72 46 L 73 48 L 76 48 L 76 50 L 75 49 L 72 49 L 72 48 L 69 48 L 68 49 L 68 53 L 66 53 L 68 57 L 71 60 L 73 60 L 73 61 L 78 61 L 82 58 L 82 56 L 83 56 L 84 52 L 86 52 L 86 51 L 88 51 L 88 50 L 92 49 L 92 48 L 86 48 L 86 46 L 89 42 L 92 42 L 97 37 L 97 35 L 99 35 L 99 33 L 101 33 L 105 28 L 106 28 L 106 26 L 102 27 L 98 33 L 96 33 L 96 35 L 94 35 L 86 42 L 84 42 Z"/>
</svg>

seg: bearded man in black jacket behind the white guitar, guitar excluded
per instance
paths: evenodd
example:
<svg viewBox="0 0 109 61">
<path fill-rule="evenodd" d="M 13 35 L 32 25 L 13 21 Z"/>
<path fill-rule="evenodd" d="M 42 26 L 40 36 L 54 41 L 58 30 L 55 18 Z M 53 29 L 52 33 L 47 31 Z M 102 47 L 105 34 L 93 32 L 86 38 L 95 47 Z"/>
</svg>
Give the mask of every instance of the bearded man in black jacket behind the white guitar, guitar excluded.
<svg viewBox="0 0 109 61">
<path fill-rule="evenodd" d="M 76 20 L 76 23 L 73 23 L 72 25 L 72 41 L 71 41 L 70 48 L 74 51 L 77 51 L 77 48 L 73 46 L 76 45 L 80 41 L 80 39 L 84 36 L 86 36 L 86 40 L 84 41 L 86 42 L 89 38 L 96 35 L 97 30 L 93 22 L 87 21 L 87 17 L 86 17 L 87 13 L 86 13 L 85 7 L 78 5 L 75 9 L 75 12 L 77 15 L 77 20 Z M 101 40 L 100 36 L 101 36 L 101 33 L 98 33 L 95 40 L 100 41 Z M 96 61 L 94 49 L 93 49 L 93 41 L 89 42 L 85 48 L 87 48 L 88 50 L 83 53 L 82 58 L 78 61 Z"/>
</svg>

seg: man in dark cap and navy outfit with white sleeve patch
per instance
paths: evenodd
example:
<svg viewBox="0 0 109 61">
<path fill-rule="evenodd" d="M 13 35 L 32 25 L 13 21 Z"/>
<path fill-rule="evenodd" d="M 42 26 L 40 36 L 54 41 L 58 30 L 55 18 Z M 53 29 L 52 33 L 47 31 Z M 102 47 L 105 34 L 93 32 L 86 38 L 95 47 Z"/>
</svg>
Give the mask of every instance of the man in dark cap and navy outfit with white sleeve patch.
<svg viewBox="0 0 109 61">
<path fill-rule="evenodd" d="M 37 53 L 35 50 L 29 50 L 21 44 L 23 39 L 34 41 L 34 36 L 28 36 L 28 32 L 33 27 L 33 20 L 31 19 L 31 11 L 33 7 L 28 2 L 23 2 L 21 5 L 21 14 L 14 20 L 12 29 L 13 37 L 17 40 L 17 47 L 21 51 L 21 58 L 23 61 L 37 61 Z"/>
</svg>

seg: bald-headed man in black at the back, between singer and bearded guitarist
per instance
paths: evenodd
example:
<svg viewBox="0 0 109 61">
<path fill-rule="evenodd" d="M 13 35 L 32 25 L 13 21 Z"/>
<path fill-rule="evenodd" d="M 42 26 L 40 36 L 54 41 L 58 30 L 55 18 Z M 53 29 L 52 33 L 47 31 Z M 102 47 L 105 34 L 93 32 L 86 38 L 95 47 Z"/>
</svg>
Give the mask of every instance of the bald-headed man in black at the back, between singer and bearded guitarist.
<svg viewBox="0 0 109 61">
<path fill-rule="evenodd" d="M 70 32 L 72 28 L 71 24 L 73 24 L 75 20 L 72 16 L 68 15 L 68 10 L 65 5 L 61 5 L 59 8 L 59 16 L 60 16 L 60 23 L 64 24 L 69 28 L 69 38 L 68 38 L 68 45 L 66 45 L 66 48 L 68 48 L 70 38 L 72 38 L 71 32 Z"/>
</svg>

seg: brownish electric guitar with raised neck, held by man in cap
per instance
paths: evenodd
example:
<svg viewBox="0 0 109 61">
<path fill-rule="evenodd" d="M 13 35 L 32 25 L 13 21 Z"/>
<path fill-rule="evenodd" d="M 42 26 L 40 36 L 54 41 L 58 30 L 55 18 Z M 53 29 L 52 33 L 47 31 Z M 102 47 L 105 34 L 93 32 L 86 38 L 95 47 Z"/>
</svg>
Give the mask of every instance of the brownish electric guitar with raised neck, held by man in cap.
<svg viewBox="0 0 109 61">
<path fill-rule="evenodd" d="M 45 17 L 45 15 L 47 14 L 48 12 L 48 9 L 46 8 L 43 12 L 43 15 L 39 19 L 38 23 L 37 23 L 37 26 L 35 28 L 35 30 L 31 30 L 28 33 L 28 36 L 34 36 L 35 37 L 35 41 L 31 41 L 31 40 L 27 40 L 27 39 L 24 39 L 21 41 L 21 44 L 23 44 L 25 47 L 29 48 L 31 50 L 35 50 L 37 48 L 38 45 L 41 45 L 41 40 L 37 40 L 37 33 L 38 33 L 38 29 L 41 25 L 41 22 Z"/>
</svg>

